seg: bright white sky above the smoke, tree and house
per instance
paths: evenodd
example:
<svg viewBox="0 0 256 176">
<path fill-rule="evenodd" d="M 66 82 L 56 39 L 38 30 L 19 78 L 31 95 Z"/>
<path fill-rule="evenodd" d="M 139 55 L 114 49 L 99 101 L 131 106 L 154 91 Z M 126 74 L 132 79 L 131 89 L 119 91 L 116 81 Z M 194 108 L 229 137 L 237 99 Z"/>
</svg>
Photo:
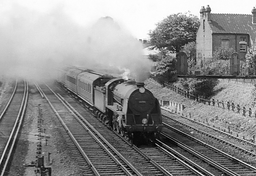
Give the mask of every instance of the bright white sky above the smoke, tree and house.
<svg viewBox="0 0 256 176">
<path fill-rule="evenodd" d="M 148 31 L 166 16 L 188 12 L 199 17 L 201 6 L 210 5 L 212 13 L 251 14 L 255 2 L 233 0 L 0 0 L 0 14 L 17 3 L 39 13 L 49 13 L 56 6 L 81 25 L 110 16 L 136 38 L 148 38 Z"/>
</svg>

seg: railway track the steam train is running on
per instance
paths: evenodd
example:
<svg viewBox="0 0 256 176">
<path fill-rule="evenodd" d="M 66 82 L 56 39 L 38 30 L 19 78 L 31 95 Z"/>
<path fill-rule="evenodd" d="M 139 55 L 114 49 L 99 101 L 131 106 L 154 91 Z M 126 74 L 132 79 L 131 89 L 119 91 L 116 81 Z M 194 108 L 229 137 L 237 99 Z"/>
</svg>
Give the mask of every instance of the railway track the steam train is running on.
<svg viewBox="0 0 256 176">
<path fill-rule="evenodd" d="M 77 111 L 84 113 L 85 109 L 81 106 L 81 101 L 80 103 L 78 103 L 74 100 L 74 98 L 69 97 L 65 97 L 65 99 L 67 99 L 69 103 L 74 105 Z M 107 131 L 107 133 L 109 133 L 113 137 L 113 139 L 119 143 L 118 147 L 121 150 L 127 150 L 127 152 L 131 153 L 136 160 L 140 161 L 144 165 L 144 167 L 148 168 L 151 171 L 151 173 L 154 173 L 154 175 L 161 175 L 162 172 L 162 175 L 188 174 L 193 176 L 203 175 L 202 173 L 204 173 L 205 175 L 213 176 L 210 172 L 204 170 L 199 165 L 190 161 L 186 157 L 181 157 L 175 151 L 173 151 L 172 153 L 175 153 L 176 156 L 159 145 L 147 148 L 138 148 L 134 145 L 130 145 L 128 141 L 121 135 L 118 135 L 116 131 L 112 131 L 108 127 L 103 125 L 100 119 L 89 117 L 87 121 L 98 130 L 104 129 L 102 133 L 106 133 Z M 109 141 L 114 141 L 113 139 L 110 139 Z M 127 143 L 129 145 L 127 145 Z M 177 157 L 177 155 L 182 159 Z M 190 163 L 192 166 L 190 166 L 184 161 Z M 159 172 L 159 170 L 161 172 Z"/>
</svg>

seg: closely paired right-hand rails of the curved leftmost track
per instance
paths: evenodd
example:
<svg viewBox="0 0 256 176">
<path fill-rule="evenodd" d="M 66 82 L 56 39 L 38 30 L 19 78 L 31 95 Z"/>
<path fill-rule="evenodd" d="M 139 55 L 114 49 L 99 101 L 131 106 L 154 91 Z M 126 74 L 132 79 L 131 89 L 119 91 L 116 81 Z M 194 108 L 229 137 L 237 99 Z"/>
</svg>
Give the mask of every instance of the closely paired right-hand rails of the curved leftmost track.
<svg viewBox="0 0 256 176">
<path fill-rule="evenodd" d="M 19 134 L 19 129 L 22 125 L 22 121 L 23 121 L 23 117 L 24 117 L 24 114 L 26 112 L 26 108 L 27 108 L 27 103 L 28 103 L 28 83 L 25 82 L 25 92 L 26 92 L 26 98 L 25 98 L 25 103 L 23 104 L 23 109 L 22 109 L 22 115 L 20 117 L 20 120 L 19 120 L 19 125 L 17 127 L 17 130 L 16 130 L 16 133 L 15 133 L 15 136 L 14 136 L 14 139 L 13 139 L 13 142 L 12 142 L 12 146 L 9 150 L 9 154 L 8 154 L 8 157 L 6 158 L 6 161 L 5 161 L 5 164 L 4 164 L 4 167 L 3 167 L 3 171 L 2 171 L 2 174 L 0 176 L 3 176 L 4 175 L 4 171 L 5 169 L 7 168 L 7 164 L 8 164 L 8 161 L 9 159 L 11 158 L 11 154 L 12 154 L 12 151 L 13 151 L 13 148 L 14 148 L 14 144 L 16 143 L 16 139 L 17 139 L 17 136 Z M 25 94 L 24 94 L 25 96 Z M 23 102 L 22 102 L 23 103 Z M 18 115 L 19 116 L 19 115 Z M 16 122 L 15 122 L 16 124 Z"/>
</svg>

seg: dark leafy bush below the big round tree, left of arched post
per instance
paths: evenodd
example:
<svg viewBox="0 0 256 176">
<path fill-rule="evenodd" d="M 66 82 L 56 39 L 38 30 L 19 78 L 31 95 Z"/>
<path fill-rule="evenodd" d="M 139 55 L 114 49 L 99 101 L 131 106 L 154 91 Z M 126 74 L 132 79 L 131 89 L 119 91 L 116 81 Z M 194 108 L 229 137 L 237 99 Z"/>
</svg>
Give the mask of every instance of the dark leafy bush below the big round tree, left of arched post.
<svg viewBox="0 0 256 176">
<path fill-rule="evenodd" d="M 161 55 L 154 76 L 160 83 L 171 83 L 177 80 L 176 59 L 169 54 Z"/>
</svg>

